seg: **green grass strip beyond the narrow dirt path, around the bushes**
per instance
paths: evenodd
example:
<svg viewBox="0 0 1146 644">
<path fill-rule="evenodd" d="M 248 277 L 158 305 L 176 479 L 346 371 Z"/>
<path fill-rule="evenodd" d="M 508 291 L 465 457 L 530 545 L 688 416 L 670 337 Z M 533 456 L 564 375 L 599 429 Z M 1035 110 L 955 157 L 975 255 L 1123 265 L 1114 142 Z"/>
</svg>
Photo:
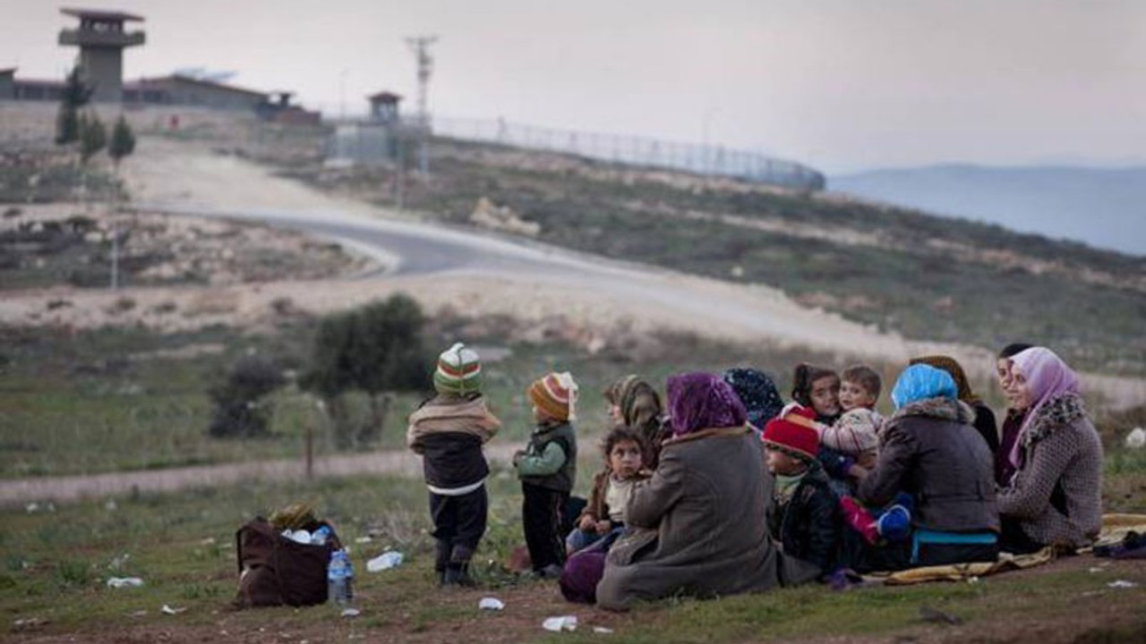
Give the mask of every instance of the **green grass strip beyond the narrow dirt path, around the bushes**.
<svg viewBox="0 0 1146 644">
<path fill-rule="evenodd" d="M 461 337 L 466 321 L 438 321 L 427 329 L 431 347 Z M 206 392 L 249 351 L 274 356 L 284 369 L 305 367 L 313 321 L 283 327 L 274 335 L 250 336 L 235 329 L 162 336 L 134 327 L 70 333 L 53 329 L 2 329 L 0 354 L 0 477 L 48 477 L 123 470 L 157 470 L 245 460 L 298 458 L 306 433 L 316 456 L 338 451 L 332 427 L 315 400 L 296 386 L 269 396 L 274 413 L 265 438 L 213 439 L 207 434 L 211 402 Z M 837 356 L 712 343 L 692 336 L 660 338 L 660 354 L 639 364 L 621 354 L 590 354 L 576 346 L 505 346 L 499 336 L 466 341 L 507 353 L 484 363 L 484 388 L 503 422 L 499 440 L 524 441 L 533 426 L 525 391 L 550 370 L 570 370 L 581 385 L 580 425 L 589 435 L 606 426 L 602 392 L 625 374 L 639 371 L 661 385 L 682 369 L 722 370 L 752 363 L 771 371 L 782 391 L 800 360 L 834 362 Z M 147 358 L 157 350 L 215 345 L 220 353 L 190 358 Z M 143 358 L 140 358 L 143 356 Z M 427 368 L 432 367 L 427 366 Z M 390 406 L 376 441 L 360 449 L 405 449 L 406 417 L 426 394 L 403 393 Z M 352 417 L 367 422 L 363 395 L 348 396 Z M 590 442 L 591 445 L 591 442 Z M 589 451 L 594 450 L 591 447 Z"/>
</svg>

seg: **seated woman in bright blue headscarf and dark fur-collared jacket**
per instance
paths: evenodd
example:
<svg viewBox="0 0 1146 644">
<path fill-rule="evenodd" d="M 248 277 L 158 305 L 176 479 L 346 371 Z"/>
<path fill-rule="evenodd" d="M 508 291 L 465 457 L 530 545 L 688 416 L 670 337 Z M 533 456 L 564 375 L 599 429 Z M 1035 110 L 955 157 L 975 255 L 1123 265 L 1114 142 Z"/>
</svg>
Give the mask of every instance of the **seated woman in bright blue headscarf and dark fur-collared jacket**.
<svg viewBox="0 0 1146 644">
<path fill-rule="evenodd" d="M 951 375 L 912 364 L 892 390 L 895 414 L 880 437 L 879 460 L 859 481 L 858 497 L 881 508 L 903 492 L 915 500 L 915 532 L 905 549 L 880 549 L 869 567 L 902 568 L 998 556 L 998 509 L 991 457 L 971 426 Z"/>
</svg>

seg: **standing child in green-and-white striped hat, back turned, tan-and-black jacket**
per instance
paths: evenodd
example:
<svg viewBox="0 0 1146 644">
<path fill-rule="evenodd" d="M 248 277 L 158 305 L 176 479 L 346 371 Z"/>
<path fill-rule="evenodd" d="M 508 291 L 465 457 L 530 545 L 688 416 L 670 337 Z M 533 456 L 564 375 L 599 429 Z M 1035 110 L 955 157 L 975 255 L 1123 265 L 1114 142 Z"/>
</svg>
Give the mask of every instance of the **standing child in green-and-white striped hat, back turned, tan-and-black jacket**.
<svg viewBox="0 0 1146 644">
<path fill-rule="evenodd" d="M 486 532 L 489 508 L 489 465 L 481 446 L 497 433 L 501 421 L 486 408 L 481 363 L 464 344 L 438 356 L 433 385 L 437 395 L 410 414 L 406 443 L 422 455 L 438 580 L 442 586 L 469 586 L 470 558 Z"/>
</svg>

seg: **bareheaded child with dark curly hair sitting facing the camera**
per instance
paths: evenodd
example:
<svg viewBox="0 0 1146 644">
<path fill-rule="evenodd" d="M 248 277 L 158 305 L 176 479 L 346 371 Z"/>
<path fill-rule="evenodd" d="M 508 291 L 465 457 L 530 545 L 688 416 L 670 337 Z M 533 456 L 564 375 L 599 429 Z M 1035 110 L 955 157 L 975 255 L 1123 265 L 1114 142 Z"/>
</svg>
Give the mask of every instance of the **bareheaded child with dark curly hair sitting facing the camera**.
<svg viewBox="0 0 1146 644">
<path fill-rule="evenodd" d="M 633 486 L 649 478 L 644 469 L 644 445 L 636 431 L 613 427 L 602 441 L 605 468 L 592 478 L 589 504 L 576 527 L 565 539 L 568 555 L 581 550 L 602 537 L 614 537 L 625 528 L 625 506 L 633 494 Z M 607 545 L 607 544 L 606 544 Z"/>
</svg>

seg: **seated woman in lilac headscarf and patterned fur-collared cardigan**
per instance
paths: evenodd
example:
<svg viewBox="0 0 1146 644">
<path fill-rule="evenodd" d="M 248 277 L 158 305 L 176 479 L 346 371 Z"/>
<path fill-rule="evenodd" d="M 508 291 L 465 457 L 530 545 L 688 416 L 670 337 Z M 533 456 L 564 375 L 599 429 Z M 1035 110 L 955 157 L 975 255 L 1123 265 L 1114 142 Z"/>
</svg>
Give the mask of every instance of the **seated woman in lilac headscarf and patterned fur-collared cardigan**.
<svg viewBox="0 0 1146 644">
<path fill-rule="evenodd" d="M 1090 545 L 1102 527 L 1102 443 L 1086 418 L 1078 377 L 1051 350 L 1011 358 L 1008 395 L 1023 411 L 999 492 L 1004 550 Z"/>
</svg>

